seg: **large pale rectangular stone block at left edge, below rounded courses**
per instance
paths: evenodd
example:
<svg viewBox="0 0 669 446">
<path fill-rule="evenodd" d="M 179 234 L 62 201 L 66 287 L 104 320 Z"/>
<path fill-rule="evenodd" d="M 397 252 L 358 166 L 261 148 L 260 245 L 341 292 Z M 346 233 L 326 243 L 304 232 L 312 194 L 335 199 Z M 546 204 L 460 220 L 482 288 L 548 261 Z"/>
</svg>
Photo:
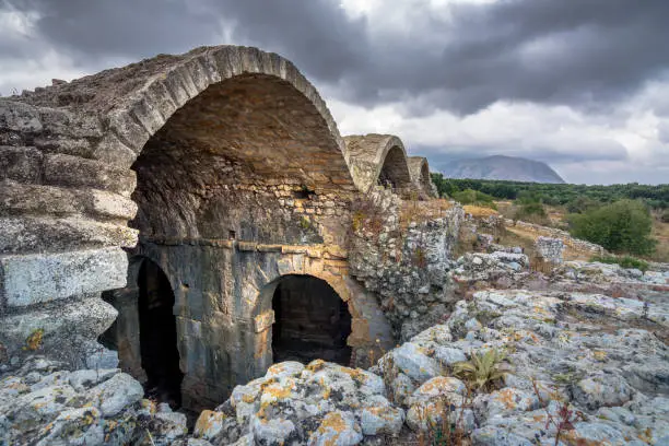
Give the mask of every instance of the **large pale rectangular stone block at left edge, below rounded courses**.
<svg viewBox="0 0 669 446">
<path fill-rule="evenodd" d="M 4 302 L 21 307 L 126 285 L 128 257 L 120 248 L 0 258 Z"/>
</svg>

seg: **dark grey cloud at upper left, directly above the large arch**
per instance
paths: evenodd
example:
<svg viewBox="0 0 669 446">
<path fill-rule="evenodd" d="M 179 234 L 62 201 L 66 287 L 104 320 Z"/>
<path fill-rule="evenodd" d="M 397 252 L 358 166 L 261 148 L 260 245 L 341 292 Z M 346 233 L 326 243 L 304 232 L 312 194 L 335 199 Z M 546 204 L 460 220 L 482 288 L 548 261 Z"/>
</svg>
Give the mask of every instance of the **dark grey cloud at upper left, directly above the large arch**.
<svg viewBox="0 0 669 446">
<path fill-rule="evenodd" d="M 5 0 L 21 11 L 38 11 L 39 33 L 78 63 L 105 57 L 139 59 L 235 43 L 306 56 L 308 71 L 336 81 L 365 58 L 364 24 L 351 22 L 329 0 Z M 355 48 L 352 50 L 352 48 Z M 301 67 L 301 68 L 304 68 Z"/>
</svg>

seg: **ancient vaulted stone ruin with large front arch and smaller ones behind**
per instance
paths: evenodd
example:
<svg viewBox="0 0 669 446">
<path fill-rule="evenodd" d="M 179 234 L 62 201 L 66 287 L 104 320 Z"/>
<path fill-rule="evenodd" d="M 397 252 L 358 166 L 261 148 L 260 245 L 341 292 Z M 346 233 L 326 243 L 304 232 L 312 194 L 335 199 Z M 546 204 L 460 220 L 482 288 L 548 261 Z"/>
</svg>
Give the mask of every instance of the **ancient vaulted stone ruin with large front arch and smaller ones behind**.
<svg viewBox="0 0 669 446">
<path fill-rule="evenodd" d="M 351 203 L 436 195 L 399 138 L 340 137 L 290 61 L 234 46 L 1 98 L 0 179 L 7 357 L 35 333 L 77 366 L 118 354 L 191 409 L 277 361 L 395 345 L 351 275 Z"/>
</svg>

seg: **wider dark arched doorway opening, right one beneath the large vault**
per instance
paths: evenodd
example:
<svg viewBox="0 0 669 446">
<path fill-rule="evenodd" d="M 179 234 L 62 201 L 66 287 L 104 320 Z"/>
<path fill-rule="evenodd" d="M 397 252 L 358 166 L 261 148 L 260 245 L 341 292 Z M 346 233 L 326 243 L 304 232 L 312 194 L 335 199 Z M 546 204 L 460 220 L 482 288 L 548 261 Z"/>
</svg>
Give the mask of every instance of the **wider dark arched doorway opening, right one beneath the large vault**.
<svg viewBox="0 0 669 446">
<path fill-rule="evenodd" d="M 285 275 L 272 297 L 274 362 L 321 359 L 349 365 L 351 314 L 337 292 L 312 275 Z"/>
</svg>

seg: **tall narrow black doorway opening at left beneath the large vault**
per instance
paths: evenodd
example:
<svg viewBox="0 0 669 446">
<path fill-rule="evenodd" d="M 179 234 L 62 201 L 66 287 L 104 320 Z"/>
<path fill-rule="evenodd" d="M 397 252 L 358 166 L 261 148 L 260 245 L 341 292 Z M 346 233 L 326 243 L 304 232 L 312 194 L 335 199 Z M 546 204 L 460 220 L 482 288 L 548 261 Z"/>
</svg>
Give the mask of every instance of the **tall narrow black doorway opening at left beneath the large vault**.
<svg viewBox="0 0 669 446">
<path fill-rule="evenodd" d="M 146 395 L 173 407 L 181 406 L 181 379 L 177 349 L 175 297 L 169 280 L 153 261 L 140 267 L 139 322 L 142 368 L 146 373 Z"/>
</svg>

